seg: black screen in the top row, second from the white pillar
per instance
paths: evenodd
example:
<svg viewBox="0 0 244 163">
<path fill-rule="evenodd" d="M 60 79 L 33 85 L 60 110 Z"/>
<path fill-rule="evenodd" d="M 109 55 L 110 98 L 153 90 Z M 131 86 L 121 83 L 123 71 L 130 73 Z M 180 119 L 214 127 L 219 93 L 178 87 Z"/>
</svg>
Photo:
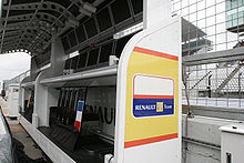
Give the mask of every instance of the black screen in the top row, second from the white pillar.
<svg viewBox="0 0 244 163">
<path fill-rule="evenodd" d="M 131 17 L 126 0 L 116 0 L 112 4 L 112 12 L 115 23 L 120 23 Z"/>
</svg>

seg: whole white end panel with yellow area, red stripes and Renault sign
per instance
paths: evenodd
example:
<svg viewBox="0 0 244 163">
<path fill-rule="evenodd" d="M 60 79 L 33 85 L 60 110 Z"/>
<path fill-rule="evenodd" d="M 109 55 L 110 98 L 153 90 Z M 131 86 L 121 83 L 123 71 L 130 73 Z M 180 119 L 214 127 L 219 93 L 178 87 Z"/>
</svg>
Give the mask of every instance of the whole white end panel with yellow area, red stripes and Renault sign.
<svg viewBox="0 0 244 163">
<path fill-rule="evenodd" d="M 114 163 L 181 162 L 181 18 L 125 45 L 118 70 Z"/>
</svg>

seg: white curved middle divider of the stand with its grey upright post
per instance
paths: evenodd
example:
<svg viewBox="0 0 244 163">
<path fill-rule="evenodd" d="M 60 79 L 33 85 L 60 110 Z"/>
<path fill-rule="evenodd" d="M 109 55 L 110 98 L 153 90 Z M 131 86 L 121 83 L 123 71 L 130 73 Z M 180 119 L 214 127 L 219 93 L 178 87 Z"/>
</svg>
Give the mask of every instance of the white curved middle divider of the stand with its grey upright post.
<svg viewBox="0 0 244 163">
<path fill-rule="evenodd" d="M 49 126 L 49 109 L 50 106 L 57 105 L 59 91 L 54 88 L 41 84 L 40 81 L 49 77 L 61 75 L 63 73 L 64 55 L 60 38 L 53 37 L 50 59 L 51 67 L 48 70 L 42 71 L 35 79 L 34 110 L 32 115 L 34 128 Z"/>
</svg>

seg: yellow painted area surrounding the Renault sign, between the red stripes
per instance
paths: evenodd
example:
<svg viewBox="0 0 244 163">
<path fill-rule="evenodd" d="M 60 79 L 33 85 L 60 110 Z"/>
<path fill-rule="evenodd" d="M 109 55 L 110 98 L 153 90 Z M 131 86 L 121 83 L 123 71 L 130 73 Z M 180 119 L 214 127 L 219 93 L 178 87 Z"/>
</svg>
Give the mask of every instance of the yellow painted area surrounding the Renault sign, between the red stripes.
<svg viewBox="0 0 244 163">
<path fill-rule="evenodd" d="M 174 80 L 174 115 L 135 119 L 132 110 L 133 77 L 136 73 L 160 75 Z M 125 142 L 177 133 L 179 131 L 179 62 L 132 52 L 126 81 Z"/>
</svg>

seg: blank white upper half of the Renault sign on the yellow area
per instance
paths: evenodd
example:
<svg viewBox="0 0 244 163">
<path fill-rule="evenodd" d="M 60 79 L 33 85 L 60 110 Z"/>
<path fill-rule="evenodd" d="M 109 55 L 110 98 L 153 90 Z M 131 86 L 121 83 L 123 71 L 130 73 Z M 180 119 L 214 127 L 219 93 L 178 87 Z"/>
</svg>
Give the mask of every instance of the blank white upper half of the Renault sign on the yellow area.
<svg viewBox="0 0 244 163">
<path fill-rule="evenodd" d="M 174 95 L 174 82 L 171 79 L 136 75 L 134 94 L 140 95 Z"/>
</svg>

